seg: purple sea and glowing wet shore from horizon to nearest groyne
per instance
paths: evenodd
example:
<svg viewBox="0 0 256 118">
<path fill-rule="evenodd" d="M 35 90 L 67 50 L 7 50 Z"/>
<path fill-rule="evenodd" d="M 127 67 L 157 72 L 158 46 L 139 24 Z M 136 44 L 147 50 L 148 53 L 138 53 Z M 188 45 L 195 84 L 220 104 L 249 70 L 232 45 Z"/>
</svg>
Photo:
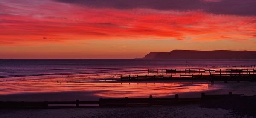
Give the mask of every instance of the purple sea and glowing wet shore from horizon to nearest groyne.
<svg viewBox="0 0 256 118">
<path fill-rule="evenodd" d="M 201 92 L 256 95 L 253 82 L 119 81 L 120 76 L 168 75 L 148 69 L 247 69 L 255 59 L 35 59 L 0 60 L 0 101 L 200 96 Z M 184 73 L 186 74 L 186 73 Z"/>
</svg>

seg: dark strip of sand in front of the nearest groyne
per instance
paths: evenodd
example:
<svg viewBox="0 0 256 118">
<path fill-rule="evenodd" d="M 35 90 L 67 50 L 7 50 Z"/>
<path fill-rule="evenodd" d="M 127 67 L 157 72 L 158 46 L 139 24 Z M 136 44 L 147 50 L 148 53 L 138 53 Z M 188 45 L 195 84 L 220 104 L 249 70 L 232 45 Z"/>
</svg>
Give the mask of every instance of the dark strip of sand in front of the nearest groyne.
<svg viewBox="0 0 256 118">
<path fill-rule="evenodd" d="M 201 108 L 198 104 L 179 106 L 1 109 L 0 118 L 253 118 L 231 110 Z"/>
</svg>

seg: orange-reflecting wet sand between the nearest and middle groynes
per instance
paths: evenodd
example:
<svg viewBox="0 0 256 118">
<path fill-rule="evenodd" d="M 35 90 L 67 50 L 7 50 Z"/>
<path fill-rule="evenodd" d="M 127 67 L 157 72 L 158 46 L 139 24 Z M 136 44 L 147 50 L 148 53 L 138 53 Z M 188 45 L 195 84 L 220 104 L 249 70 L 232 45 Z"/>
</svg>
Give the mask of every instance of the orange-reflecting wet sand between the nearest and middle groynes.
<svg viewBox="0 0 256 118">
<path fill-rule="evenodd" d="M 0 101 L 75 101 L 76 99 L 80 101 L 99 101 L 99 98 L 148 98 L 149 95 L 153 95 L 154 98 L 165 98 L 174 97 L 175 94 L 179 94 L 180 97 L 201 97 L 202 92 L 206 94 L 228 94 L 228 92 L 232 92 L 233 94 L 247 96 L 256 95 L 256 82 L 218 82 L 213 85 L 205 83 L 154 84 L 152 82 L 148 84 L 122 83 L 122 85 L 120 83 L 97 83 L 94 85 L 93 83 L 88 85 L 87 83 L 52 84 L 56 83 L 49 83 L 45 86 L 39 84 L 40 88 L 36 88 L 37 91 L 33 91 L 32 87 L 36 87 L 35 85 L 31 87 L 24 86 L 23 89 L 29 89 L 29 92 L 0 94 Z M 53 88 L 55 86 L 58 88 Z M 46 92 L 47 89 L 51 88 L 53 90 Z M 61 89 L 65 91 L 61 91 Z"/>
</svg>

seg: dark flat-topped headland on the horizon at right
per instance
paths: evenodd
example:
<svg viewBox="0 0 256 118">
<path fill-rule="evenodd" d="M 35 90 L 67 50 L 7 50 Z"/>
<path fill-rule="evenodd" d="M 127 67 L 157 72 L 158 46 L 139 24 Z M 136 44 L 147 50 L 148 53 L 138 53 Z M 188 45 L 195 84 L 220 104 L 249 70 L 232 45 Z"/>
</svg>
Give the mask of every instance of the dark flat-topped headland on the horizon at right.
<svg viewBox="0 0 256 118">
<path fill-rule="evenodd" d="M 143 58 L 135 59 L 256 59 L 256 51 L 173 50 L 171 52 L 150 52 Z"/>
</svg>

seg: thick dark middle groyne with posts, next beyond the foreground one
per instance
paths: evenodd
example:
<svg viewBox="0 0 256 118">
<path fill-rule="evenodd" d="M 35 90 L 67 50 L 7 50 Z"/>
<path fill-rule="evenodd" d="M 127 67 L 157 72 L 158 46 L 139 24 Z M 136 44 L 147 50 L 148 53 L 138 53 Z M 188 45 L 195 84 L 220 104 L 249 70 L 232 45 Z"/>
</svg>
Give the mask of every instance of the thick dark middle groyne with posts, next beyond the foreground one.
<svg viewBox="0 0 256 118">
<path fill-rule="evenodd" d="M 212 74 L 209 75 L 178 75 L 178 77 L 171 76 L 164 76 L 164 75 L 137 75 L 137 76 L 128 76 L 128 77 L 122 77 L 120 76 L 121 81 L 157 81 L 157 80 L 207 80 L 211 81 L 212 83 L 214 81 L 256 81 L 256 74 Z"/>
</svg>

